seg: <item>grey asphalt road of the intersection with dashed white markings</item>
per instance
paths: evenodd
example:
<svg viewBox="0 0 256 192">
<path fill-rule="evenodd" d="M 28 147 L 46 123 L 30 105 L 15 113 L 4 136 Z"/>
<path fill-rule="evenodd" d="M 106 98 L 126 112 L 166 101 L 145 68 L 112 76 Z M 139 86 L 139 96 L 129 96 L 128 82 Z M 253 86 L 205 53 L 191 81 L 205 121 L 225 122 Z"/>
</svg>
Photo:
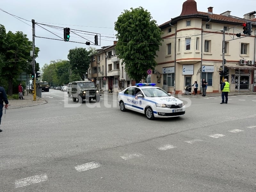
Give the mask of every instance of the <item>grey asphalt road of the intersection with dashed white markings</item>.
<svg viewBox="0 0 256 192">
<path fill-rule="evenodd" d="M 116 95 L 10 109 L 0 133 L 0 191 L 256 191 L 256 96 L 179 98 L 186 115 L 148 120 Z"/>
</svg>

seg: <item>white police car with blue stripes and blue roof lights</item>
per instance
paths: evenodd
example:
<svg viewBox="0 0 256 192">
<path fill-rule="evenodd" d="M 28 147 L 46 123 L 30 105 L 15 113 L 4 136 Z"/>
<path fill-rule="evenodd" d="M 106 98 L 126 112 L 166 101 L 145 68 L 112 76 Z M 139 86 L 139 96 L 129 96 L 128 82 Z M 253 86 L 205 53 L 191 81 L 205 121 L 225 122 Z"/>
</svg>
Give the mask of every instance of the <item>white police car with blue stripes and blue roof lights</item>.
<svg viewBox="0 0 256 192">
<path fill-rule="evenodd" d="M 127 109 L 143 113 L 148 119 L 185 115 L 184 102 L 171 96 L 155 83 L 138 83 L 118 93 L 121 111 Z"/>
</svg>

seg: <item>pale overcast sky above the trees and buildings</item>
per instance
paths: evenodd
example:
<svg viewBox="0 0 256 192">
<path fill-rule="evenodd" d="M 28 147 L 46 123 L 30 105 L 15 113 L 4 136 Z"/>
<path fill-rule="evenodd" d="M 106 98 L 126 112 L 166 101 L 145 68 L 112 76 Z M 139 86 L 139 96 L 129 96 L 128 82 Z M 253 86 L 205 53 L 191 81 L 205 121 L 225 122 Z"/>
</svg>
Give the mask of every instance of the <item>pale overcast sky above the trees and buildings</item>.
<svg viewBox="0 0 256 192">
<path fill-rule="evenodd" d="M 100 34 L 100 48 L 102 46 L 112 45 L 115 39 L 114 23 L 117 17 L 124 10 L 137 8 L 139 6 L 148 10 L 151 16 L 161 25 L 171 18 L 180 15 L 182 4 L 185 0 L 128 0 L 128 1 L 89 1 L 89 0 L 1 0 L 0 8 L 12 15 L 22 19 L 16 19 L 12 15 L 0 11 L 0 24 L 4 25 L 6 32 L 22 31 L 27 34 L 32 41 L 32 23 L 43 23 L 57 26 L 60 28 L 69 27 L 72 29 L 86 31 L 79 33 L 84 38 L 75 34 L 70 34 L 70 41 L 94 42 L 93 33 Z M 220 14 L 225 11 L 231 11 L 231 15 L 243 18 L 248 12 L 255 11 L 255 0 L 244 1 L 226 1 L 226 0 L 196 0 L 197 11 L 207 12 L 208 7 L 213 7 L 213 13 Z M 241 9 L 244 7 L 244 9 Z M 251 8 L 248 10 L 248 8 Z M 25 20 L 23 20 L 25 19 Z M 28 20 L 28 21 L 26 21 Z M 40 28 L 40 26 L 53 32 L 57 36 Z M 36 36 L 48 38 L 63 38 L 63 29 L 49 28 L 43 25 L 36 25 Z M 82 34 L 83 33 L 83 34 Z M 60 36 L 60 37 L 58 37 Z M 35 45 L 39 47 L 39 57 L 36 62 L 43 67 L 45 63 L 49 64 L 51 60 L 67 60 L 68 51 L 75 47 L 88 48 L 88 45 L 64 42 L 58 40 L 35 38 Z"/>
</svg>

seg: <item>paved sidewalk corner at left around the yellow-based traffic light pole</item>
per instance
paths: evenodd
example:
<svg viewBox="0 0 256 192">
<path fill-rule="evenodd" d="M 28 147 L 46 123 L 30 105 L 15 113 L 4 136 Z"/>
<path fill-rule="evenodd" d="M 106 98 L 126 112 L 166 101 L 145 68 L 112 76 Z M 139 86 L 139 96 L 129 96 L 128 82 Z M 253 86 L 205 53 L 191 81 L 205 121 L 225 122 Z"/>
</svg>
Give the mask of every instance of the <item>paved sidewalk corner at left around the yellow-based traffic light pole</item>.
<svg viewBox="0 0 256 192">
<path fill-rule="evenodd" d="M 15 109 L 15 108 L 22 108 L 22 107 L 30 107 L 30 106 L 35 106 L 35 105 L 42 105 L 47 103 L 45 100 L 36 97 L 36 101 L 34 101 L 34 96 L 32 93 L 25 92 L 23 95 L 24 100 L 20 99 L 8 99 L 9 101 L 9 107 L 8 109 Z"/>
</svg>

